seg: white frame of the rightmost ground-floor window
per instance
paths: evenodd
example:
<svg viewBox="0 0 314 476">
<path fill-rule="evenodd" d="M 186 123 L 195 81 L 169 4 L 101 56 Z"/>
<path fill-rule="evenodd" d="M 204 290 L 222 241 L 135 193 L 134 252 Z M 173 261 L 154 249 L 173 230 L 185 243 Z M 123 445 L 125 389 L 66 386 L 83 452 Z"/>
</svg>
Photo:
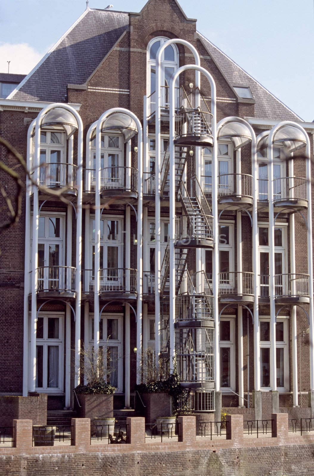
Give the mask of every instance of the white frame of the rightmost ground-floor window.
<svg viewBox="0 0 314 476">
<path fill-rule="evenodd" d="M 259 326 L 261 321 L 270 322 L 270 316 L 259 316 Z M 276 348 L 283 348 L 284 349 L 284 387 L 277 387 L 279 392 L 289 392 L 290 384 L 289 384 L 289 316 L 278 316 L 277 322 L 284 322 L 284 342 L 276 342 Z M 261 333 L 260 333 L 261 335 Z M 270 341 L 262 341 L 260 340 L 260 349 L 261 348 L 269 348 L 271 347 Z M 270 357 L 271 358 L 271 357 Z M 262 361 L 261 361 L 262 365 Z M 272 374 L 273 369 L 271 366 L 270 360 L 270 376 L 269 381 L 272 381 Z M 269 392 L 271 387 L 262 387 L 262 372 L 261 372 L 261 390 L 264 392 Z"/>
</svg>

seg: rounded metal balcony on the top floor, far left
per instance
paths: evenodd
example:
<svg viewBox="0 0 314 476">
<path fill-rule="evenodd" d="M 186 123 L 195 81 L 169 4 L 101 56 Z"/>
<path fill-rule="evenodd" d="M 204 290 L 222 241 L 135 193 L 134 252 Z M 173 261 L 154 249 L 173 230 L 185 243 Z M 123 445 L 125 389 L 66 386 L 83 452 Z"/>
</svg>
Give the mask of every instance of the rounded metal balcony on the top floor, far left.
<svg viewBox="0 0 314 476">
<path fill-rule="evenodd" d="M 77 165 L 65 162 L 44 163 L 40 166 L 39 181 L 42 187 L 61 189 L 61 195 L 68 198 L 76 197 L 77 194 Z M 49 193 L 40 189 L 41 198 L 52 199 Z"/>
</svg>

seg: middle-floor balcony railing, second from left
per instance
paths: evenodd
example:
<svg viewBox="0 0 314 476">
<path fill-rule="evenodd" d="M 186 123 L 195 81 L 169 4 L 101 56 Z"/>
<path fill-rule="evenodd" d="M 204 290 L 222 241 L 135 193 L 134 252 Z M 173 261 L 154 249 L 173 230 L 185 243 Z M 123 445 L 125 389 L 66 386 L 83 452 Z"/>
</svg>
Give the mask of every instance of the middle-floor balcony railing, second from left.
<svg viewBox="0 0 314 476">
<path fill-rule="evenodd" d="M 93 293 L 95 289 L 95 271 L 84 269 L 82 273 L 83 292 Z M 125 292 L 136 293 L 137 270 L 133 268 L 102 268 L 100 270 L 100 293 Z"/>
</svg>

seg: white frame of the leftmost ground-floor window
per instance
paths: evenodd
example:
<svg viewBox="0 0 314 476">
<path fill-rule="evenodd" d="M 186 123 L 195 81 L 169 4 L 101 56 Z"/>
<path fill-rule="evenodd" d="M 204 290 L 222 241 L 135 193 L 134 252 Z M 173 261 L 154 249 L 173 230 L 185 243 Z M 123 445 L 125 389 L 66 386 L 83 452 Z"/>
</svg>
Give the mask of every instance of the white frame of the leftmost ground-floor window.
<svg viewBox="0 0 314 476">
<path fill-rule="evenodd" d="M 43 345 L 43 383 L 46 383 L 43 387 L 36 387 L 35 390 L 38 393 L 49 393 L 49 394 L 63 394 L 64 393 L 64 313 L 63 312 L 52 312 L 52 311 L 43 311 L 39 312 L 38 317 L 44 318 L 44 338 L 38 339 L 36 337 L 36 346 Z M 45 330 L 47 330 L 48 317 L 59 317 L 59 339 L 48 339 L 45 338 Z M 30 332 L 30 323 L 31 323 L 31 314 L 29 314 L 29 332 Z M 30 340 L 29 340 L 30 345 Z M 47 372 L 48 372 L 48 346 L 58 346 L 59 347 L 59 387 L 52 388 L 47 387 Z M 30 359 L 30 356 L 29 356 Z M 29 360 L 29 368 L 31 368 Z"/>
</svg>

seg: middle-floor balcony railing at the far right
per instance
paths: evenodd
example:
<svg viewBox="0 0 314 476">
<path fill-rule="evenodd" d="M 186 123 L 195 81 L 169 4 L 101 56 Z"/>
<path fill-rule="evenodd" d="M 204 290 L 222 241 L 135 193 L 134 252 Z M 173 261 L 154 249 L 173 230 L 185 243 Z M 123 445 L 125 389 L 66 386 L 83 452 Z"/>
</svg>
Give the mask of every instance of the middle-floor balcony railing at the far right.
<svg viewBox="0 0 314 476">
<path fill-rule="evenodd" d="M 260 275 L 260 297 L 269 297 L 269 276 Z M 274 276 L 275 297 L 310 297 L 308 274 L 276 274 Z"/>
</svg>

